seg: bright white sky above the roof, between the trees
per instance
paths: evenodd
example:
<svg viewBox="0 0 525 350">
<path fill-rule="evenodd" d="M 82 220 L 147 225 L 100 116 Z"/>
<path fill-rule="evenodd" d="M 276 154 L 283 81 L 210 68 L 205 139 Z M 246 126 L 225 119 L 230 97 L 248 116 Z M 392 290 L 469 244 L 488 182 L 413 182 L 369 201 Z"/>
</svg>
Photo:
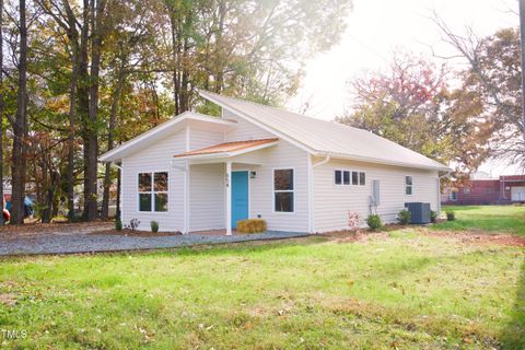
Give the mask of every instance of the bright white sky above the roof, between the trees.
<svg viewBox="0 0 525 350">
<path fill-rule="evenodd" d="M 351 105 L 348 81 L 365 70 L 385 69 L 394 50 L 432 57 L 433 47 L 440 56 L 454 54 L 429 19 L 432 10 L 455 33 L 469 26 L 485 36 L 518 25 L 517 0 L 353 0 L 339 44 L 307 61 L 303 83 L 288 108 L 298 112 L 307 102 L 306 115 L 331 120 Z M 454 65 L 459 68 L 462 62 Z M 494 176 L 514 171 L 502 164 L 485 164 L 481 170 Z"/>
</svg>

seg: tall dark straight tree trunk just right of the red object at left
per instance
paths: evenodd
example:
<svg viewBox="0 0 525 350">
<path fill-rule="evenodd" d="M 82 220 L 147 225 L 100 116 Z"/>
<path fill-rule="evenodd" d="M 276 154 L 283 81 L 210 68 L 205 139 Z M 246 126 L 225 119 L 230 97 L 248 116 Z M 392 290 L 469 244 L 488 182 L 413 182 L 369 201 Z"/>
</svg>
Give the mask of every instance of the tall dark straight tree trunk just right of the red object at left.
<svg viewBox="0 0 525 350">
<path fill-rule="evenodd" d="M 24 222 L 25 168 L 27 133 L 27 25 L 25 0 L 20 0 L 20 58 L 19 91 L 16 95 L 16 115 L 13 124 L 13 163 L 12 163 L 12 212 L 11 222 Z"/>
</svg>

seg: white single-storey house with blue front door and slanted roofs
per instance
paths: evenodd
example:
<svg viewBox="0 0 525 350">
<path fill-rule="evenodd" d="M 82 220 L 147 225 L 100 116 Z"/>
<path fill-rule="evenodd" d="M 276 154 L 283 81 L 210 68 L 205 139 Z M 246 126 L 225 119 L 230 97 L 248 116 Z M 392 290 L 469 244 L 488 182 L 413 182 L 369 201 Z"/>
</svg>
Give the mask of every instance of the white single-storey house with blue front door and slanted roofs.
<svg viewBox="0 0 525 350">
<path fill-rule="evenodd" d="M 440 206 L 450 168 L 365 130 L 210 92 L 191 112 L 103 154 L 121 166 L 121 219 L 185 234 L 262 218 L 268 230 L 348 229 L 348 213 L 395 221 L 407 201 Z"/>
</svg>

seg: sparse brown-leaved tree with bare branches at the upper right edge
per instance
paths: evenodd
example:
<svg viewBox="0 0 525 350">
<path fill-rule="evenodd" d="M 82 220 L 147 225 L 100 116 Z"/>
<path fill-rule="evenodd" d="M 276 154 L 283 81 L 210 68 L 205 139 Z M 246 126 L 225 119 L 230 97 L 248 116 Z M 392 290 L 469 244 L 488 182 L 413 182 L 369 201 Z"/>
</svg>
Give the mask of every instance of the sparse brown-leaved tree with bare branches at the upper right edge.
<svg viewBox="0 0 525 350">
<path fill-rule="evenodd" d="M 525 166 L 521 47 L 516 28 L 478 37 L 471 27 L 463 34 L 454 33 L 435 12 L 431 20 L 442 33 L 443 42 L 457 51 L 447 57 L 434 55 L 445 59 L 460 58 L 468 63 L 468 69 L 462 72 L 464 89 L 482 101 L 479 118 L 492 124 L 491 158 Z"/>
</svg>

